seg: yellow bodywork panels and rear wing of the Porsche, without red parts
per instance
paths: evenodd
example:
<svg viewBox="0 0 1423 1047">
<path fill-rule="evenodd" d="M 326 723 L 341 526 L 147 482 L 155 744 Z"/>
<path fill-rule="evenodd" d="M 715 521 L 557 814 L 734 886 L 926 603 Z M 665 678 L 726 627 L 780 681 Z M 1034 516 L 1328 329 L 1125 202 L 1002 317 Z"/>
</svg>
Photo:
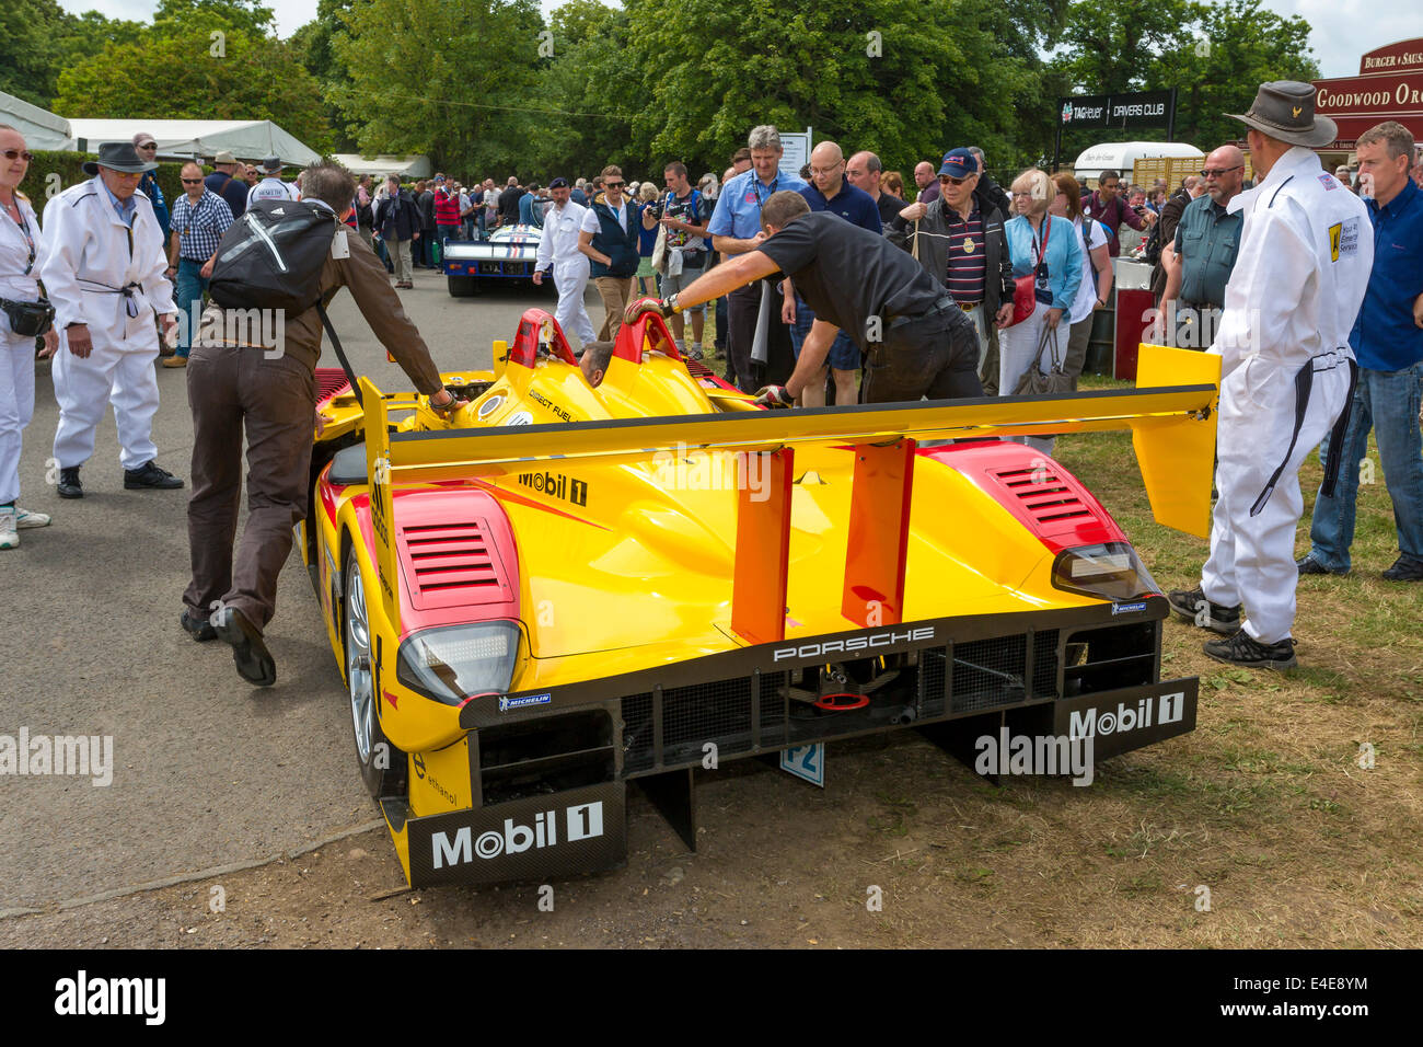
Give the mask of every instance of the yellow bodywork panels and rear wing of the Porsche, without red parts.
<svg viewBox="0 0 1423 1047">
<path fill-rule="evenodd" d="M 795 450 L 787 640 L 855 627 L 841 615 L 852 443 L 1130 427 L 1157 520 L 1204 537 L 1218 365 L 1141 346 L 1137 390 L 766 412 L 657 352 L 642 363 L 615 356 L 592 389 L 571 363 L 509 365 L 495 343 L 492 372 L 445 376 L 490 383 L 448 420 L 424 397 L 361 379 L 364 409 L 339 396 L 323 439 L 363 429 L 371 483 L 337 489 L 334 519 L 316 504 L 312 513 L 329 637 L 340 660 L 329 573 L 354 547 L 386 651 L 379 687 L 394 697 L 377 701 L 381 728 L 423 762 L 424 773 L 410 775 L 410 812 L 478 805 L 458 709 L 396 679 L 404 581 L 393 491 L 458 483 L 498 500 L 518 550 L 522 640 L 509 691 L 534 691 L 743 645 L 730 627 L 737 486 L 754 490 L 760 452 L 778 447 Z M 909 519 L 905 623 L 1100 603 L 1054 588 L 1049 548 L 965 473 L 918 459 Z"/>
</svg>

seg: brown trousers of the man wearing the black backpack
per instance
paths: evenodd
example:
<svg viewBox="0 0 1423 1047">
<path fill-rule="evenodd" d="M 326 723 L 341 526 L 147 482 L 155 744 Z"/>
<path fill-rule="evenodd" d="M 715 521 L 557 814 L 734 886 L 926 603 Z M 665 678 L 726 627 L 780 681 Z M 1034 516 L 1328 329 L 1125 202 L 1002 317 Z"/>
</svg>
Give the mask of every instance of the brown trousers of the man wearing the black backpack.
<svg viewBox="0 0 1423 1047">
<path fill-rule="evenodd" d="M 192 583 L 184 604 L 206 618 L 222 601 L 265 628 L 276 611 L 276 578 L 292 551 L 292 527 L 306 519 L 316 379 L 292 356 L 266 359 L 262 349 L 195 345 L 188 358 L 188 406 Z M 248 526 L 233 557 L 243 429 Z"/>
</svg>

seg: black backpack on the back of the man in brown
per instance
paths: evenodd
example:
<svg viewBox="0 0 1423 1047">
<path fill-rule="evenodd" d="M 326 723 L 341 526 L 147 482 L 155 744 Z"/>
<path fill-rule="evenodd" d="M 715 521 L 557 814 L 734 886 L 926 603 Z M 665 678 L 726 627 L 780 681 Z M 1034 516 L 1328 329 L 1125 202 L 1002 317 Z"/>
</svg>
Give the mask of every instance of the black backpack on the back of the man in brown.
<svg viewBox="0 0 1423 1047">
<path fill-rule="evenodd" d="M 259 199 L 222 234 L 212 301 L 229 309 L 303 313 L 322 298 L 322 266 L 339 222 L 312 201 Z"/>
</svg>

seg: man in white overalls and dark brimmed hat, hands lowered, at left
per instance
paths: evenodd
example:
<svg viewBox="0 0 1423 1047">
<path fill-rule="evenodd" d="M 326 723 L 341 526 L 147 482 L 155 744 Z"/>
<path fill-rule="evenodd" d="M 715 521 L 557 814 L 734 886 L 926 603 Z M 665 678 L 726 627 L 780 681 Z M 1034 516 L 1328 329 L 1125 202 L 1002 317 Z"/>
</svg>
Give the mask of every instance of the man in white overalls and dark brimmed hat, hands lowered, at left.
<svg viewBox="0 0 1423 1047">
<path fill-rule="evenodd" d="M 158 332 L 174 326 L 174 291 L 164 276 L 168 258 L 152 204 L 138 181 L 157 164 L 141 160 L 131 142 L 104 142 L 98 162 L 85 161 L 87 182 L 71 185 L 44 208 L 46 261 L 40 279 L 54 302 L 61 332 L 54 358 L 54 399 L 60 426 L 54 459 L 58 496 L 83 499 L 80 466 L 94 453 L 94 430 L 105 403 L 122 449 L 124 487 L 182 487 L 158 467 L 152 440 L 158 410 Z"/>
</svg>

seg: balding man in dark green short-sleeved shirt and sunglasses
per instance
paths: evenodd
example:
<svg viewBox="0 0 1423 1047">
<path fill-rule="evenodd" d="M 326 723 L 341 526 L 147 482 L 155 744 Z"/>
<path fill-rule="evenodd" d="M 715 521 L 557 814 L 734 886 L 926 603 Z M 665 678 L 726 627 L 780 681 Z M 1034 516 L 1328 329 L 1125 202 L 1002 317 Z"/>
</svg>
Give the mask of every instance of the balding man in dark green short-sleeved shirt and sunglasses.
<svg viewBox="0 0 1423 1047">
<path fill-rule="evenodd" d="M 1222 145 L 1205 158 L 1201 178 L 1207 195 L 1181 209 L 1161 292 L 1170 345 L 1184 349 L 1204 349 L 1211 343 L 1225 306 L 1225 283 L 1235 268 L 1244 221 L 1229 211 L 1229 202 L 1245 181 L 1245 154 L 1235 145 Z"/>
</svg>

